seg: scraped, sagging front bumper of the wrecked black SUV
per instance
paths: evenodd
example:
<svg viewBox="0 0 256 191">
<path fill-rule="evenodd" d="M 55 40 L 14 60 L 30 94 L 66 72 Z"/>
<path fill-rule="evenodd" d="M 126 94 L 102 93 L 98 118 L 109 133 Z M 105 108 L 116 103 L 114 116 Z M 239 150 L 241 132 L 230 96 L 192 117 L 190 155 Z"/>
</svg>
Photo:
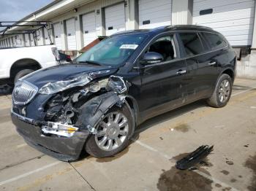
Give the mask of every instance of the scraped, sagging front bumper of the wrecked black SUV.
<svg viewBox="0 0 256 191">
<path fill-rule="evenodd" d="M 40 152 L 63 161 L 77 160 L 89 136 L 89 131 L 76 131 L 70 137 L 45 136 L 42 134 L 42 122 L 11 112 L 12 122 L 20 136 Z"/>
</svg>

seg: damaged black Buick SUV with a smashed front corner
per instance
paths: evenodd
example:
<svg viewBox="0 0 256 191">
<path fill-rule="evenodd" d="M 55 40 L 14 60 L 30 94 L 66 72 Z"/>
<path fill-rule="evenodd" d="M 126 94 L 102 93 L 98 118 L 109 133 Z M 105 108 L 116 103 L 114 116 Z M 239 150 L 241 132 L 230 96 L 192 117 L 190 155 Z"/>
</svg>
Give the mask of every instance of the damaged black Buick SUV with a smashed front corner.
<svg viewBox="0 0 256 191">
<path fill-rule="evenodd" d="M 59 160 L 127 147 L 141 122 L 200 99 L 230 99 L 236 54 L 203 26 L 114 34 L 72 64 L 35 71 L 12 93 L 12 122 L 32 147 Z"/>
</svg>

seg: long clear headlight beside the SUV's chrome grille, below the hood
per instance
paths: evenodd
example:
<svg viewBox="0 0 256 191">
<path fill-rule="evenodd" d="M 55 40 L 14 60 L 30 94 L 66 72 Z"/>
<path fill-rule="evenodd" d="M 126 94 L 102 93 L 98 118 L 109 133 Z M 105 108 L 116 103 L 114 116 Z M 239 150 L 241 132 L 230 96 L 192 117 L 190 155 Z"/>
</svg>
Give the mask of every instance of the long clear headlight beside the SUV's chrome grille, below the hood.
<svg viewBox="0 0 256 191">
<path fill-rule="evenodd" d="M 72 77 L 71 79 L 58 81 L 58 82 L 49 82 L 48 84 L 42 86 L 38 93 L 41 94 L 53 94 L 58 93 L 63 90 L 67 90 L 71 87 L 83 86 L 91 82 L 90 74 L 80 74 L 79 76 Z"/>
</svg>

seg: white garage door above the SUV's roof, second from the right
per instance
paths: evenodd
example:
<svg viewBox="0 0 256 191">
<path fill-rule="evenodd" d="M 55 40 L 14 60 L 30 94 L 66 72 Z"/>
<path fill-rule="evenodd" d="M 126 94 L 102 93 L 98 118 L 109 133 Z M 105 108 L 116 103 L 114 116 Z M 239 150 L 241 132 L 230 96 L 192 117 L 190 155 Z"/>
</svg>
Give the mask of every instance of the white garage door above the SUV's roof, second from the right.
<svg viewBox="0 0 256 191">
<path fill-rule="evenodd" d="M 139 27 L 170 26 L 171 4 L 171 0 L 139 0 Z"/>
</svg>

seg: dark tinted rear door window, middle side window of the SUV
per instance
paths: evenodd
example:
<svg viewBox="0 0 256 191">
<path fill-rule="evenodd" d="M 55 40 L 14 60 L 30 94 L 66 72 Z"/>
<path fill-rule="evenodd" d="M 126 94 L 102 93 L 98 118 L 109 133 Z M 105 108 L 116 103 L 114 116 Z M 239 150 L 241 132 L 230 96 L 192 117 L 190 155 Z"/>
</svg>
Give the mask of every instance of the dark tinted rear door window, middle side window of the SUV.
<svg viewBox="0 0 256 191">
<path fill-rule="evenodd" d="M 181 33 L 179 35 L 187 55 L 198 55 L 204 52 L 203 45 L 196 33 Z"/>
</svg>

